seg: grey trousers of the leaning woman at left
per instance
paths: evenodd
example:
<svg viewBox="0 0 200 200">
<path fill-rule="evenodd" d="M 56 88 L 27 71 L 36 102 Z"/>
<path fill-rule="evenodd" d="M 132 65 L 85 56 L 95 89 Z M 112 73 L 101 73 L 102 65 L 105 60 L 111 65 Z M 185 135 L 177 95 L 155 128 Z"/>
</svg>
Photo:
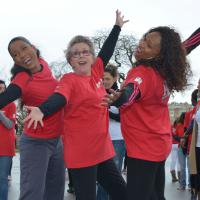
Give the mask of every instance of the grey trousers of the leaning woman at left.
<svg viewBox="0 0 200 200">
<path fill-rule="evenodd" d="M 20 200 L 63 200 L 65 166 L 60 138 L 20 138 Z"/>
</svg>

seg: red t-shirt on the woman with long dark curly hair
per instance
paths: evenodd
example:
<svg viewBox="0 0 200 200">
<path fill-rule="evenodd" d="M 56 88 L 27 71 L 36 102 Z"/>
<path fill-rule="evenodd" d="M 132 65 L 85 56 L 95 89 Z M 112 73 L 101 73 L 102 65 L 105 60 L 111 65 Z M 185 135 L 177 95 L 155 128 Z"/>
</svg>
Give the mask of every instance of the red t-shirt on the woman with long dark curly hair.
<svg viewBox="0 0 200 200">
<path fill-rule="evenodd" d="M 129 157 L 163 161 L 171 150 L 172 137 L 168 111 L 169 90 L 151 67 L 129 71 L 125 85 L 138 85 L 141 97 L 121 109 L 121 127 Z"/>
</svg>

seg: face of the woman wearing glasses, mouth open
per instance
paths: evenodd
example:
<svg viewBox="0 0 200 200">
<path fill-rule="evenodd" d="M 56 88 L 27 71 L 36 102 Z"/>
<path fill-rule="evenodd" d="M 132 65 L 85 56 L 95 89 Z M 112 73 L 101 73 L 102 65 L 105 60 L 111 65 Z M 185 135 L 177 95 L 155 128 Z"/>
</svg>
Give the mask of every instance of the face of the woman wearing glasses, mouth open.
<svg viewBox="0 0 200 200">
<path fill-rule="evenodd" d="M 70 49 L 70 65 L 79 75 L 90 76 L 94 56 L 86 43 L 76 43 Z"/>
</svg>

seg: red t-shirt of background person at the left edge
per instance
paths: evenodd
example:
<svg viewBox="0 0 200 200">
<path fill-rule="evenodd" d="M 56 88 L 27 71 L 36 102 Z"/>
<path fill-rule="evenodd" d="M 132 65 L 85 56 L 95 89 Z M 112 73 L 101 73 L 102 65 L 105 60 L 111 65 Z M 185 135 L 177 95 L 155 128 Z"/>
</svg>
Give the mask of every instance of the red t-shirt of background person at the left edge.
<svg viewBox="0 0 200 200">
<path fill-rule="evenodd" d="M 7 118 L 13 121 L 13 128 L 7 129 L 2 122 L 0 122 L 0 156 L 14 156 L 16 106 L 14 103 L 10 103 L 2 108 L 1 111 Z"/>
</svg>

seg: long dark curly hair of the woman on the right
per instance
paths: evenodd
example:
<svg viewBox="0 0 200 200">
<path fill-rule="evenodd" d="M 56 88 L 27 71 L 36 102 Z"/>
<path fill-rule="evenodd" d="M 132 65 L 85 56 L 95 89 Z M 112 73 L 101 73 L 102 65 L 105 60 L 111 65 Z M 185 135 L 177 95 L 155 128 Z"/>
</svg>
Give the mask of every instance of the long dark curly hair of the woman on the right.
<svg viewBox="0 0 200 200">
<path fill-rule="evenodd" d="M 183 91 L 189 85 L 188 78 L 192 75 L 192 72 L 186 60 L 180 35 L 173 28 L 159 26 L 150 29 L 144 37 L 152 32 L 159 32 L 161 35 L 159 57 L 139 60 L 135 65 L 153 67 L 166 80 L 170 92 Z"/>
</svg>

